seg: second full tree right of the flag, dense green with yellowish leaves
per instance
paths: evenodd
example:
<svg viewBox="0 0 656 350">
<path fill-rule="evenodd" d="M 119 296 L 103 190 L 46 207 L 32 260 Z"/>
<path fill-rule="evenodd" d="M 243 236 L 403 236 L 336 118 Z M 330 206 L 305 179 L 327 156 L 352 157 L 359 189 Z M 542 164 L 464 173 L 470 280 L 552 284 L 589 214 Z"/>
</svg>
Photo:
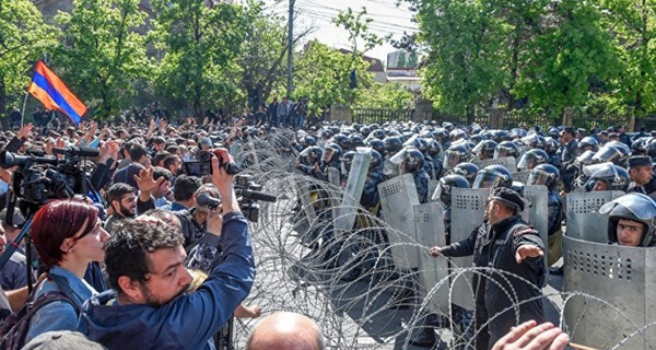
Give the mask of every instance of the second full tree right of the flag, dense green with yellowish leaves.
<svg viewBox="0 0 656 350">
<path fill-rule="evenodd" d="M 152 38 L 164 55 L 157 92 L 190 102 L 197 117 L 204 108 L 243 98 L 237 60 L 248 27 L 243 8 L 197 0 L 153 0 L 152 5 L 157 13 Z"/>
</svg>

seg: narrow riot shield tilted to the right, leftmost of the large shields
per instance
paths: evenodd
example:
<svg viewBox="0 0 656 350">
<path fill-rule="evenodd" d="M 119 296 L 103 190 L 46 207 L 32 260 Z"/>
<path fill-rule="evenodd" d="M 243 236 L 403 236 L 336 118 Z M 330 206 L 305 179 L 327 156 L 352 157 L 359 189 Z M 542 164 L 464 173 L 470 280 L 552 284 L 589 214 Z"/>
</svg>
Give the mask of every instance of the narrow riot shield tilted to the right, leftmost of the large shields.
<svg viewBox="0 0 656 350">
<path fill-rule="evenodd" d="M 353 223 L 355 222 L 355 217 L 358 217 L 358 207 L 360 207 L 360 198 L 362 198 L 362 190 L 364 189 L 364 182 L 366 180 L 366 173 L 368 171 L 371 161 L 371 153 L 356 153 L 353 156 L 351 171 L 349 172 L 349 179 L 347 180 L 347 188 L 344 189 L 344 196 L 335 217 L 336 230 L 348 232 L 353 229 Z"/>
</svg>

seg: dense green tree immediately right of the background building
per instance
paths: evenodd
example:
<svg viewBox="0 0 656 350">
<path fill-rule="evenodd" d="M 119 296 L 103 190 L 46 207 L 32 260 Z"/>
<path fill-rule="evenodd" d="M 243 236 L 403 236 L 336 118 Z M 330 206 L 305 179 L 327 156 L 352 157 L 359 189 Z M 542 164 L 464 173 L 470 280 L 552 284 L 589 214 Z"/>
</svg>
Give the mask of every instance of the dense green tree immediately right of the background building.
<svg viewBox="0 0 656 350">
<path fill-rule="evenodd" d="M 503 21 L 481 1 L 426 0 L 413 7 L 418 39 L 427 51 L 423 93 L 442 110 L 473 122 L 477 108 L 507 86 L 508 72 L 500 69 L 506 57 Z"/>
</svg>

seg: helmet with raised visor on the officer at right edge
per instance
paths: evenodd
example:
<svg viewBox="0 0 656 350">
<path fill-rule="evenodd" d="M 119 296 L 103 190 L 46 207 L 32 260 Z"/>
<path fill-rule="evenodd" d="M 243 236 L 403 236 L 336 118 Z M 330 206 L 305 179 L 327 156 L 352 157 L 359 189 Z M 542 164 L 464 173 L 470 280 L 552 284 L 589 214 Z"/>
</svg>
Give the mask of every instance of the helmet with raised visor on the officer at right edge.
<svg viewBox="0 0 656 350">
<path fill-rule="evenodd" d="M 608 214 L 608 241 L 622 244 L 618 237 L 618 223 L 621 219 L 643 224 L 640 247 L 651 247 L 656 244 L 656 202 L 643 194 L 629 194 L 617 198 L 599 208 L 599 213 Z"/>
</svg>

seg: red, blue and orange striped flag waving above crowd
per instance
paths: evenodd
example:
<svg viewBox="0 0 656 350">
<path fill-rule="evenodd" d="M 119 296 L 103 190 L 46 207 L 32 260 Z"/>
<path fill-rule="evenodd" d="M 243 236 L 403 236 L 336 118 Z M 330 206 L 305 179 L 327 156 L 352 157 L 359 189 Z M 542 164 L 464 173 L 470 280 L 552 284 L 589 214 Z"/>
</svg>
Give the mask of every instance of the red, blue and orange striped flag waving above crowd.
<svg viewBox="0 0 656 350">
<path fill-rule="evenodd" d="M 36 63 L 27 92 L 40 101 L 47 109 L 66 114 L 75 125 L 82 121 L 82 116 L 86 113 L 86 106 L 40 60 Z"/>
</svg>

